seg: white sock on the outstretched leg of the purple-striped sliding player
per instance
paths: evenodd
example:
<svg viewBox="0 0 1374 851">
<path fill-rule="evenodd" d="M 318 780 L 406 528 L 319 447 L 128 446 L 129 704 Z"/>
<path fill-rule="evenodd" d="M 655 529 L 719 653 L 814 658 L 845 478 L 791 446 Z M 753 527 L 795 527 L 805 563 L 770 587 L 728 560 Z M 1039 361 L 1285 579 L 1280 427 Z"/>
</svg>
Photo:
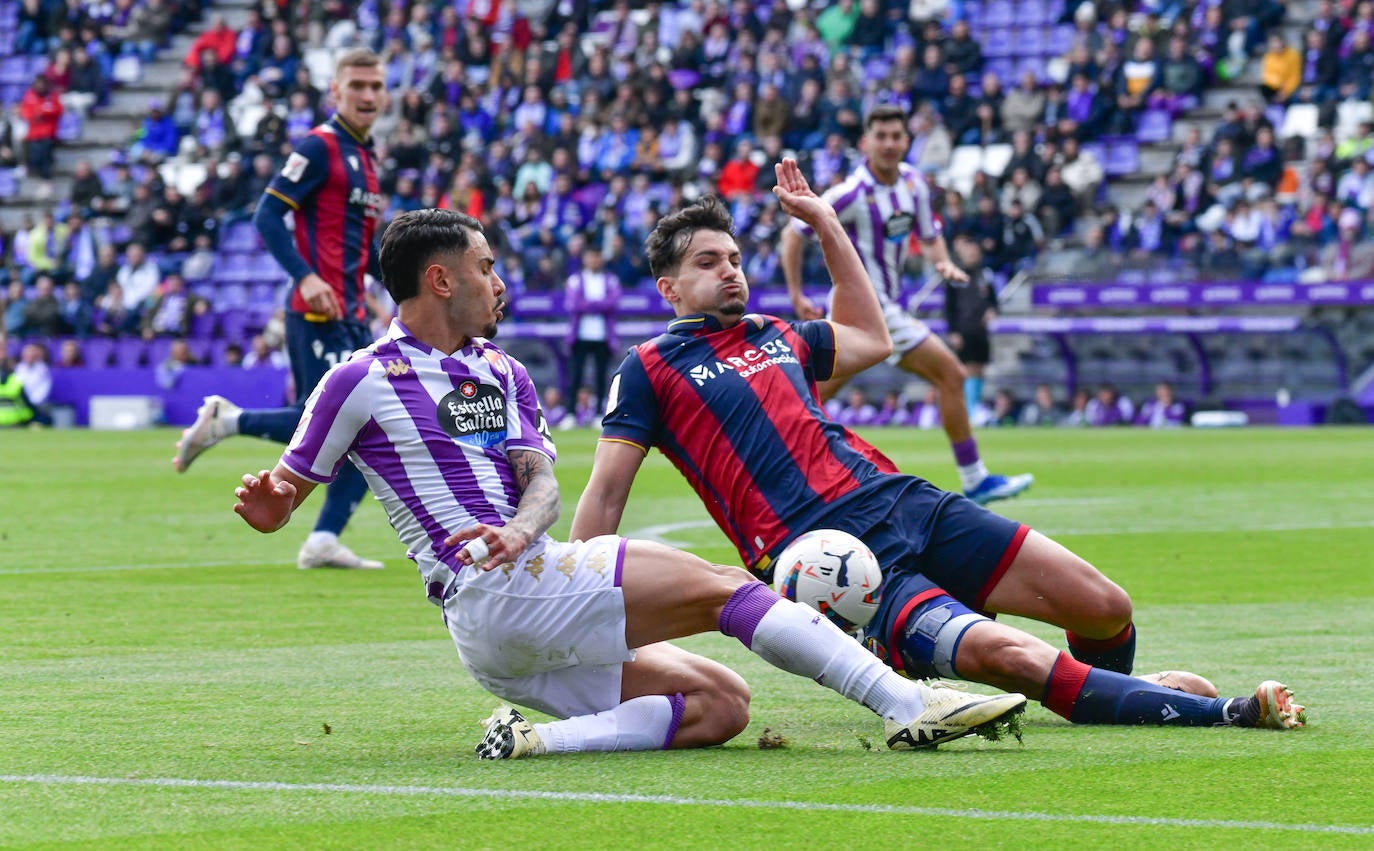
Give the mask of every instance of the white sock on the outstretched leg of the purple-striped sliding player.
<svg viewBox="0 0 1374 851">
<path fill-rule="evenodd" d="M 790 599 L 779 599 L 768 609 L 749 649 L 883 718 L 905 723 L 926 708 L 914 682 L 903 679 L 826 616 Z"/>
</svg>

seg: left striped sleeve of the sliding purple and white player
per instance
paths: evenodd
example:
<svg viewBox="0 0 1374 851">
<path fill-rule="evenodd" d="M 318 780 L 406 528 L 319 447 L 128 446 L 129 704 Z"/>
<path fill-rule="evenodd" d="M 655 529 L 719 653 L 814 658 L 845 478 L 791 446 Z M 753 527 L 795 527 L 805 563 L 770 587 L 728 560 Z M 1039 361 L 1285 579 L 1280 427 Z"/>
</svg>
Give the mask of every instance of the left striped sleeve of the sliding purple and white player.
<svg viewBox="0 0 1374 851">
<path fill-rule="evenodd" d="M 371 418 L 364 382 L 372 363 L 370 357 L 341 363 L 311 393 L 295 434 L 282 454 L 282 463 L 293 473 L 320 484 L 334 480 Z"/>
</svg>

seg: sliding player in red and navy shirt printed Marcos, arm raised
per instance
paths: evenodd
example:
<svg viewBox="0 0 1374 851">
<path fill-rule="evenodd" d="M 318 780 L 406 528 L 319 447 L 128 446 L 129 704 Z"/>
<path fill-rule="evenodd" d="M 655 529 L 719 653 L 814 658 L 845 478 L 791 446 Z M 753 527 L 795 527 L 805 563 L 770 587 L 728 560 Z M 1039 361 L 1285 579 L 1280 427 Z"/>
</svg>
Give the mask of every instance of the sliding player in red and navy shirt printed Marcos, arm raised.
<svg viewBox="0 0 1374 851">
<path fill-rule="evenodd" d="M 778 166 L 778 184 L 815 197 L 791 159 Z M 863 539 L 885 572 L 864 642 L 897 671 L 1021 692 L 1079 723 L 1298 726 L 1303 708 L 1274 681 L 1253 697 L 1219 698 L 1194 675 L 1129 676 L 1135 630 L 1125 591 L 1044 535 L 901 474 L 826 417 L 816 382 L 867 368 L 892 344 L 868 276 L 842 250 L 840 219 L 820 224 L 835 282 L 829 322 L 746 313 L 734 223 L 717 199 L 658 223 L 649 261 L 676 319 L 632 349 L 613 379 L 572 538 L 617 529 L 657 445 L 764 579 L 802 532 L 838 528 Z M 984 613 L 1058 624 L 1069 653 Z"/>
</svg>

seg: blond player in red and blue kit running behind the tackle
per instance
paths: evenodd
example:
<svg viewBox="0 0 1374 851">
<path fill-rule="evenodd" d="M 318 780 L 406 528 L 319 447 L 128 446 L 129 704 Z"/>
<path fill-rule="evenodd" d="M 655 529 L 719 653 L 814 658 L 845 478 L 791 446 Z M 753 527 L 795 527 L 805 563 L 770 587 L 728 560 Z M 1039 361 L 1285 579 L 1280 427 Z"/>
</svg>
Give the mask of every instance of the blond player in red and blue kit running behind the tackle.
<svg viewBox="0 0 1374 851">
<path fill-rule="evenodd" d="M 229 434 L 289 443 L 305 399 L 324 373 L 372 342 L 364 300 L 365 276 L 379 276 L 374 236 L 386 202 L 376 179 L 368 132 L 386 107 L 381 58 L 367 49 L 339 56 L 330 93 L 334 117 L 316 126 L 287 157 L 258 202 L 253 224 L 264 245 L 295 282 L 286 312 L 297 404 L 242 410 L 223 396 L 207 396 L 195 423 L 177 443 L 179 472 Z M 295 219 L 295 235 L 284 217 Z M 339 532 L 367 494 L 367 481 L 348 461 L 326 491 L 315 531 L 297 557 L 301 568 L 379 569 L 339 543 Z"/>
</svg>

